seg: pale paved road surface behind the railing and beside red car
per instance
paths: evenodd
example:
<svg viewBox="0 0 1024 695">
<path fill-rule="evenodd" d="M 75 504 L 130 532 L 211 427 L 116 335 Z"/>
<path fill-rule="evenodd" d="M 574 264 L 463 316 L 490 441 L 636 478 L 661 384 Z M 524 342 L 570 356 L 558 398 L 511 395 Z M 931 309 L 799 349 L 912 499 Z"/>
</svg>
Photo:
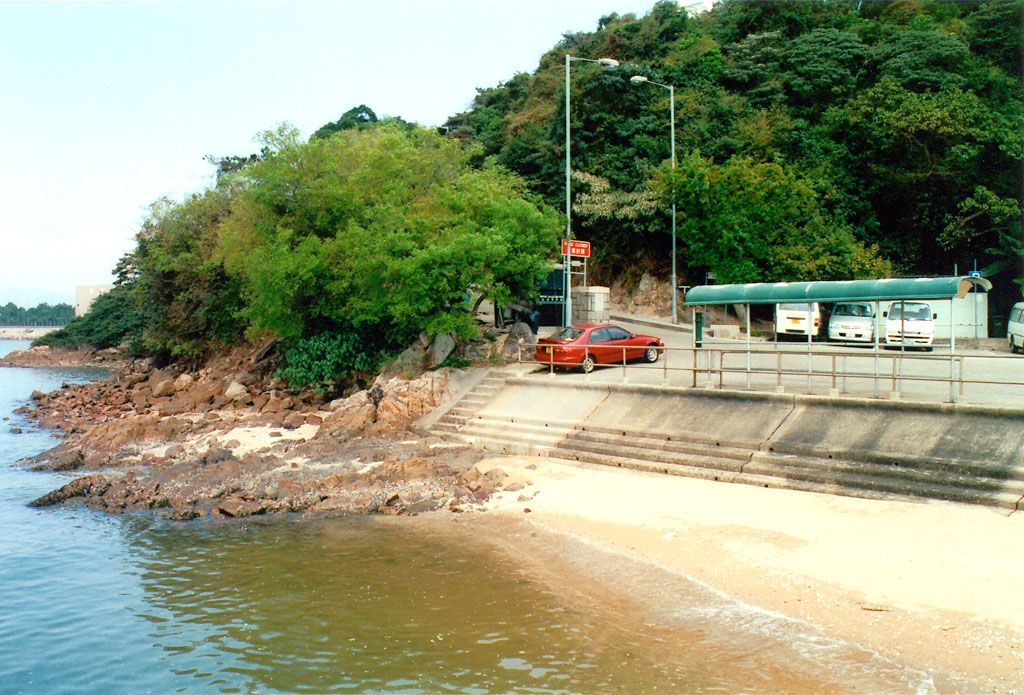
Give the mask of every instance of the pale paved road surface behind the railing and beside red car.
<svg viewBox="0 0 1024 695">
<path fill-rule="evenodd" d="M 1024 407 L 1024 356 L 1009 352 L 957 348 L 951 359 L 949 347 L 941 345 L 934 352 L 876 352 L 873 347 L 833 343 L 815 343 L 808 350 L 806 343 L 752 341 L 748 355 L 743 340 L 705 341 L 707 349 L 696 355 L 694 375 L 690 333 L 626 320 L 615 322 L 633 333 L 658 336 L 668 348 L 666 354 L 654 364 L 602 366 L 590 375 L 561 372 L 556 378 L 689 387 L 710 384 L 712 388 L 721 383 L 730 389 Z M 541 335 L 546 335 L 543 330 Z M 709 359 L 713 364 L 711 375 Z M 720 375 L 719 370 L 724 373 Z M 950 379 L 955 382 L 952 386 Z"/>
</svg>

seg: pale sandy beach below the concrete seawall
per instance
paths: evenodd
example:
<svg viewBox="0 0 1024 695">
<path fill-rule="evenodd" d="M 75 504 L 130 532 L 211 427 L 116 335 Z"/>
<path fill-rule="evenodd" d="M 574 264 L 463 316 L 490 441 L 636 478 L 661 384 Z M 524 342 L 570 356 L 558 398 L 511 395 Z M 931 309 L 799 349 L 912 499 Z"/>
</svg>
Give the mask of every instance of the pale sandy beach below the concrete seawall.
<svg viewBox="0 0 1024 695">
<path fill-rule="evenodd" d="M 541 458 L 477 466 L 526 483 L 495 495 L 480 521 L 516 536 L 510 552 L 549 569 L 560 565 L 552 570 L 560 580 L 565 572 L 575 571 L 578 581 L 590 574 L 599 596 L 670 613 L 671 593 L 651 595 L 624 575 L 647 568 L 685 577 L 798 631 L 882 657 L 887 672 L 868 679 L 866 692 L 1024 692 L 1024 514 Z M 605 560 L 588 569 L 582 558 L 598 556 Z M 913 675 L 906 689 L 892 685 L 903 679 L 900 668 Z M 855 676 L 848 685 L 865 692 Z"/>
</svg>

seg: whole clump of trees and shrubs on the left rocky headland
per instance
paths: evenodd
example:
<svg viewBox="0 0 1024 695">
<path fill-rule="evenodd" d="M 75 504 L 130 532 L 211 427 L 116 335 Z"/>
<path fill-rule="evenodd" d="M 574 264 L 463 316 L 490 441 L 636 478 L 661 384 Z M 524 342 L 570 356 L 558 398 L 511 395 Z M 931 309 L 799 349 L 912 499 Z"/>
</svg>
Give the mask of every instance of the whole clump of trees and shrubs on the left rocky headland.
<svg viewBox="0 0 1024 695">
<path fill-rule="evenodd" d="M 273 337 L 282 376 L 330 383 L 372 375 L 421 333 L 469 336 L 470 297 L 528 295 L 557 246 L 557 212 L 431 130 L 379 123 L 303 142 L 282 126 L 262 142 L 215 186 L 156 203 L 114 291 L 41 342 L 197 361 Z"/>
</svg>

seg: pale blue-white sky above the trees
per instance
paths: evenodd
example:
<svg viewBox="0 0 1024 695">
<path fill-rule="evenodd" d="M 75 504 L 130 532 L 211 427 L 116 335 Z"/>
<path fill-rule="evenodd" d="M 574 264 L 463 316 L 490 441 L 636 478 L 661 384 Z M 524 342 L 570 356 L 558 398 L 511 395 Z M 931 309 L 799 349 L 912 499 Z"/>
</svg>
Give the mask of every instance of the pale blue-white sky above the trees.
<svg viewBox="0 0 1024 695">
<path fill-rule="evenodd" d="M 0 304 L 112 283 L 152 203 L 213 183 L 205 155 L 360 103 L 439 125 L 563 33 L 653 3 L 2 2 Z"/>
</svg>

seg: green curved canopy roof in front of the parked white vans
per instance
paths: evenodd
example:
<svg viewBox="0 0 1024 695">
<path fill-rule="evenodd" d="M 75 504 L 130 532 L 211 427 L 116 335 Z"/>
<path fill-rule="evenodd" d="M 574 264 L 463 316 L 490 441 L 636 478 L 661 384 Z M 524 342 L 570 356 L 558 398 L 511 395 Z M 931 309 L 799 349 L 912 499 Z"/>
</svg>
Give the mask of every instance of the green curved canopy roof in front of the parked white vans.
<svg viewBox="0 0 1024 695">
<path fill-rule="evenodd" d="M 750 283 L 702 285 L 686 293 L 687 306 L 703 304 L 779 304 L 781 302 L 844 302 L 964 297 L 972 287 L 986 292 L 984 277 L 891 277 L 817 283 Z"/>
</svg>

